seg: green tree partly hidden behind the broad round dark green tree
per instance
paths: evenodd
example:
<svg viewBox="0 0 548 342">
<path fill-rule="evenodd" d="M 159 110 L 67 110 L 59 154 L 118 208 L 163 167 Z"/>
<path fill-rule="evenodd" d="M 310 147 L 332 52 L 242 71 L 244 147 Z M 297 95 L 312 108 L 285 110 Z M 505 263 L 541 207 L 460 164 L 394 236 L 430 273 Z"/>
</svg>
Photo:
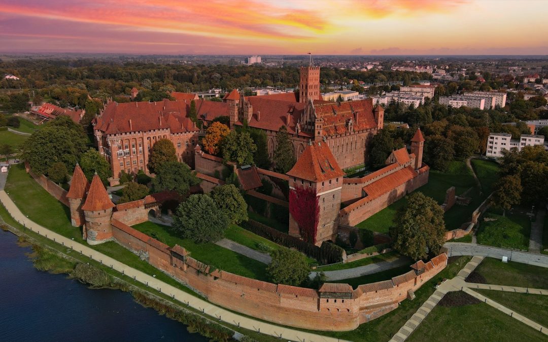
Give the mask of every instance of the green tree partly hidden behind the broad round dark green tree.
<svg viewBox="0 0 548 342">
<path fill-rule="evenodd" d="M 220 208 L 230 223 L 238 224 L 247 221 L 247 203 L 234 184 L 214 187 L 208 194 L 215 205 Z"/>
</svg>

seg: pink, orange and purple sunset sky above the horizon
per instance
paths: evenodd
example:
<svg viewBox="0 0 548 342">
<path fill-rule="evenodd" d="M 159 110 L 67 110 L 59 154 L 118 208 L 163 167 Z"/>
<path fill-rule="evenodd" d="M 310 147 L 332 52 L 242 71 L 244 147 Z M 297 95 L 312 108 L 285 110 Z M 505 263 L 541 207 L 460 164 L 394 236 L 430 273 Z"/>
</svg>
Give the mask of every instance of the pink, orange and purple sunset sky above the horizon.
<svg viewBox="0 0 548 342">
<path fill-rule="evenodd" d="M 548 0 L 0 0 L 0 53 L 547 55 Z"/>
</svg>

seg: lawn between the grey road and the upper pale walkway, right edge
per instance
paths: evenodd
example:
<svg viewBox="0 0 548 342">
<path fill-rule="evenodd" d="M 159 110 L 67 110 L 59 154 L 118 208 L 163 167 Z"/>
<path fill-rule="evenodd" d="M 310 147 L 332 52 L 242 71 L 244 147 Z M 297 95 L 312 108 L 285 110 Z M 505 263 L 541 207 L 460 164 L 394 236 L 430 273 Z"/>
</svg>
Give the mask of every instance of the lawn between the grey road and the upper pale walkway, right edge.
<svg viewBox="0 0 548 342">
<path fill-rule="evenodd" d="M 485 258 L 474 273 L 488 284 L 548 289 L 548 270 L 540 266 Z"/>
</svg>

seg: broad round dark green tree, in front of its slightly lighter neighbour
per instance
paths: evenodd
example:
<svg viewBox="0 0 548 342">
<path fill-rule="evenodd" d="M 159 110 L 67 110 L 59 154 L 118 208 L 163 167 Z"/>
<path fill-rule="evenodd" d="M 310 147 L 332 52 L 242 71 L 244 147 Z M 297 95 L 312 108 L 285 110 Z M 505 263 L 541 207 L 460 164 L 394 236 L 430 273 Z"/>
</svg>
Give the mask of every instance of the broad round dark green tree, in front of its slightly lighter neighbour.
<svg viewBox="0 0 548 342">
<path fill-rule="evenodd" d="M 198 244 L 222 239 L 229 219 L 208 195 L 190 195 L 173 216 L 173 228 Z"/>
</svg>

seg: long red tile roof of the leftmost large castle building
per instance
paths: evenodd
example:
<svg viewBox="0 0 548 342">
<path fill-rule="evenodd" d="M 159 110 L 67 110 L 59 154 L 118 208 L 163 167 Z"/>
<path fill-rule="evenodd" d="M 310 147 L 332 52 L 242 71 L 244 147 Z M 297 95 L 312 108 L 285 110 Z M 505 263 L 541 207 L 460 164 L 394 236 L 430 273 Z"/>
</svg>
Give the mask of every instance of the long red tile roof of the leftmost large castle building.
<svg viewBox="0 0 548 342">
<path fill-rule="evenodd" d="M 95 130 L 106 134 L 169 128 L 172 133 L 198 131 L 187 117 L 190 104 L 184 101 L 110 102 L 96 120 Z"/>
</svg>

